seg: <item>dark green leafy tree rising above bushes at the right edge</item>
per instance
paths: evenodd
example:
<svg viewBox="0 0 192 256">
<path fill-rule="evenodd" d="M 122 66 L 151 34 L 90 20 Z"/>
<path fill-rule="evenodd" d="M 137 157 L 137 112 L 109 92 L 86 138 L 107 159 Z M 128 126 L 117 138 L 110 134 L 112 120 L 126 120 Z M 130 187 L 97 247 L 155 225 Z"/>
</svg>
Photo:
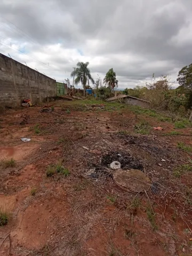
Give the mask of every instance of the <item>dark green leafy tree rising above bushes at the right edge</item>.
<svg viewBox="0 0 192 256">
<path fill-rule="evenodd" d="M 192 89 L 192 63 L 179 71 L 177 81 L 179 85 Z"/>
</svg>

